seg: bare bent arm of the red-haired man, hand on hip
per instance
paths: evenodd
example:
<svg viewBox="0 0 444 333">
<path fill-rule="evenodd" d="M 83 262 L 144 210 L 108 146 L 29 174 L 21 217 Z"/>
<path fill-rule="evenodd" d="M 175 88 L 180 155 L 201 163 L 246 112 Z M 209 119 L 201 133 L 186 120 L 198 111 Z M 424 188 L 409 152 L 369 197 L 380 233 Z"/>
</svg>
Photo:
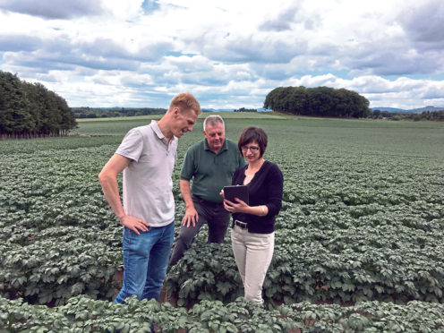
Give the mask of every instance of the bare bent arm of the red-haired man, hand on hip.
<svg viewBox="0 0 444 333">
<path fill-rule="evenodd" d="M 124 168 L 131 162 L 130 158 L 125 158 L 122 155 L 115 154 L 109 158 L 107 164 L 103 167 L 98 180 L 102 185 L 102 191 L 105 194 L 109 206 L 113 209 L 115 216 L 119 218 L 120 223 L 130 228 L 137 235 L 141 235 L 139 231 L 147 231 L 148 223 L 141 218 L 134 218 L 124 212 L 124 206 L 120 201 L 119 187 L 117 184 L 117 175 L 119 175 Z"/>
</svg>

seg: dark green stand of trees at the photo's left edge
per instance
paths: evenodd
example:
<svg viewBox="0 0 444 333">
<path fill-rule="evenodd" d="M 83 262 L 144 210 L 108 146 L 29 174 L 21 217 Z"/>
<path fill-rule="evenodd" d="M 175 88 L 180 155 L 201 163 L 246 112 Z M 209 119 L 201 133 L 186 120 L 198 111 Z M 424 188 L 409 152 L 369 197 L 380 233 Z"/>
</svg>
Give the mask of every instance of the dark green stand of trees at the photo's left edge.
<svg viewBox="0 0 444 333">
<path fill-rule="evenodd" d="M 67 135 L 77 126 L 64 98 L 41 83 L 21 81 L 0 71 L 0 138 Z"/>
</svg>

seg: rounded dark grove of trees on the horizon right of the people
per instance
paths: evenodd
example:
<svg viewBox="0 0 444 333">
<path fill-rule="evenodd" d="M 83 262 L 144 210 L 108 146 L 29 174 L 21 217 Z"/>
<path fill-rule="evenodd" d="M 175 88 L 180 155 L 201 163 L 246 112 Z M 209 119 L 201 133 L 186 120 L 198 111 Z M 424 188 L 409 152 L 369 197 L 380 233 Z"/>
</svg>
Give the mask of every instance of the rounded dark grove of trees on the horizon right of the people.
<svg viewBox="0 0 444 333">
<path fill-rule="evenodd" d="M 265 98 L 264 107 L 294 115 L 362 118 L 371 115 L 370 102 L 357 92 L 329 87 L 278 87 Z"/>
</svg>

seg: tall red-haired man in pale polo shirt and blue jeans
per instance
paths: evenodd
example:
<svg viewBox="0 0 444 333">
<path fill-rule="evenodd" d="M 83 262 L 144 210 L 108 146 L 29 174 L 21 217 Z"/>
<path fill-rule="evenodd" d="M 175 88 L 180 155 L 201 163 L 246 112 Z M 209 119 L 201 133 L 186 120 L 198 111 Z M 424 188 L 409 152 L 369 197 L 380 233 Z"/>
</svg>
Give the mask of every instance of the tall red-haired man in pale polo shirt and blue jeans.
<svg viewBox="0 0 444 333">
<path fill-rule="evenodd" d="M 175 96 L 166 114 L 133 128 L 98 175 L 105 197 L 124 225 L 124 285 L 115 298 L 160 295 L 175 234 L 173 169 L 177 140 L 191 132 L 199 102 L 189 93 Z M 124 172 L 124 202 L 117 175 Z"/>
</svg>

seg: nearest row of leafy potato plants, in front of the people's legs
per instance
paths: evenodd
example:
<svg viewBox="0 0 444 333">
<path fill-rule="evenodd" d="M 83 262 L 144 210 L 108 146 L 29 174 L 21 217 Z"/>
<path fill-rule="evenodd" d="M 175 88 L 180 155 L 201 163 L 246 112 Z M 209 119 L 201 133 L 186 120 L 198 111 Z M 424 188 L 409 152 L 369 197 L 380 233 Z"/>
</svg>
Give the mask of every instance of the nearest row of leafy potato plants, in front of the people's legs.
<svg viewBox="0 0 444 333">
<path fill-rule="evenodd" d="M 442 304 L 363 302 L 341 307 L 308 302 L 267 311 L 243 298 L 224 305 L 201 301 L 190 310 L 170 303 L 128 300 L 128 305 L 77 296 L 57 308 L 0 297 L 0 329 L 10 332 L 443 332 Z"/>
</svg>

